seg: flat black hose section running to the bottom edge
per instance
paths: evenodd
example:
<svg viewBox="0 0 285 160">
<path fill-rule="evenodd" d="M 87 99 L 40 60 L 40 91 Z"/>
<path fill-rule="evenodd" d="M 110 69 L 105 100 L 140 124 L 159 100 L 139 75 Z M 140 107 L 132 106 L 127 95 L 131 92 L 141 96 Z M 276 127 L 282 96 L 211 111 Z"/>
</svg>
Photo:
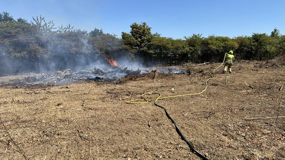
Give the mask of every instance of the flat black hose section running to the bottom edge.
<svg viewBox="0 0 285 160">
<path fill-rule="evenodd" d="M 197 156 L 199 156 L 201 159 L 203 160 L 209 160 L 207 157 L 205 157 L 203 154 L 201 154 L 199 151 L 197 151 L 194 146 L 183 136 L 183 134 L 181 133 L 178 125 L 176 124 L 176 122 L 170 117 L 169 113 L 167 112 L 166 108 L 164 108 L 163 106 L 160 106 L 159 104 L 154 102 L 155 106 L 158 106 L 160 108 L 164 109 L 164 112 L 166 113 L 166 116 L 171 120 L 171 122 L 174 124 L 175 129 L 177 131 L 177 133 L 179 134 L 179 136 L 187 143 L 187 145 L 189 146 L 189 148 L 191 149 L 192 152 L 194 152 L 195 154 L 197 154 Z"/>
</svg>

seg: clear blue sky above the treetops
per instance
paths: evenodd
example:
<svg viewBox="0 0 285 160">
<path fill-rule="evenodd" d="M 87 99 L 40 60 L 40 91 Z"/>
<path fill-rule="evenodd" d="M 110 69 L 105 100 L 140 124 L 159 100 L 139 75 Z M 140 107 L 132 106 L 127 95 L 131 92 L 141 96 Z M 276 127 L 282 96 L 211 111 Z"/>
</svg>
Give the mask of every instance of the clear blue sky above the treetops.
<svg viewBox="0 0 285 160">
<path fill-rule="evenodd" d="M 42 15 L 56 26 L 71 24 L 87 31 L 129 32 L 133 22 L 147 22 L 152 32 L 183 38 L 267 33 L 277 27 L 285 34 L 284 0 L 2 0 L 0 11 L 15 19 Z"/>
</svg>

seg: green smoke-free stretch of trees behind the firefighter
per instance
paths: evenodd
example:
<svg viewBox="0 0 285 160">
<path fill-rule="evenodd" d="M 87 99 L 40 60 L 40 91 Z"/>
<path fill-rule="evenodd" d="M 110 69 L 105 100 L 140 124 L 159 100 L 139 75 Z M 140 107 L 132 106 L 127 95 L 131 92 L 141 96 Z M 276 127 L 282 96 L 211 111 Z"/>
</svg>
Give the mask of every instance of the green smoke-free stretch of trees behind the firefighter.
<svg viewBox="0 0 285 160">
<path fill-rule="evenodd" d="M 285 35 L 274 29 L 270 35 L 253 33 L 252 36 L 234 38 L 222 36 L 203 37 L 202 34 L 185 36 L 184 39 L 161 37 L 151 34 L 146 23 L 131 25 L 130 33 L 122 33 L 124 47 L 134 55 L 153 60 L 164 65 L 183 62 L 218 62 L 230 50 L 236 59 L 268 60 L 284 55 Z"/>
</svg>

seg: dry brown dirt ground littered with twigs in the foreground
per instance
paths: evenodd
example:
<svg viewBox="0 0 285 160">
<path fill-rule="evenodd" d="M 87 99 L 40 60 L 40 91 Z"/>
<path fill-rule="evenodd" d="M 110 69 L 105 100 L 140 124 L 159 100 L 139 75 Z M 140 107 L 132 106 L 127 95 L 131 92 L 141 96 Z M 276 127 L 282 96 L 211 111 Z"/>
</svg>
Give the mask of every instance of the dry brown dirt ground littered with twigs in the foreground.
<svg viewBox="0 0 285 160">
<path fill-rule="evenodd" d="M 203 94 L 158 103 L 209 159 L 285 159 L 285 118 L 248 120 L 285 116 L 285 86 L 279 91 L 285 69 L 259 68 L 261 63 L 237 62 L 232 74 L 217 73 Z M 200 92 L 210 77 L 203 72 L 217 66 L 155 79 L 150 73 L 119 84 L 2 87 L 0 159 L 200 159 L 163 109 L 125 102 L 150 91 Z"/>
</svg>

